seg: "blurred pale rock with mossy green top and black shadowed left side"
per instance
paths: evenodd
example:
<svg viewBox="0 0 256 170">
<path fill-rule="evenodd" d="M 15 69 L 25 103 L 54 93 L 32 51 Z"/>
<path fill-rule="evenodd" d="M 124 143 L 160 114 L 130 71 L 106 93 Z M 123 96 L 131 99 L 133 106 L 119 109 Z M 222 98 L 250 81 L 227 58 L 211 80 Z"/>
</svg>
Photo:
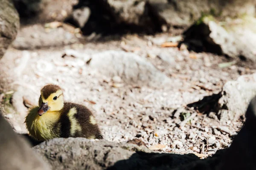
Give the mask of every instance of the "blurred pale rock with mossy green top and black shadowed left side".
<svg viewBox="0 0 256 170">
<path fill-rule="evenodd" d="M 222 26 L 221 22 L 209 16 L 204 17 L 201 24 L 191 26 L 184 32 L 184 42 L 189 44 L 189 50 L 207 51 L 256 62 L 256 31 L 252 24 L 256 19 L 243 17 L 224 22 L 226 25 Z M 201 44 L 196 45 L 195 41 Z"/>
</svg>

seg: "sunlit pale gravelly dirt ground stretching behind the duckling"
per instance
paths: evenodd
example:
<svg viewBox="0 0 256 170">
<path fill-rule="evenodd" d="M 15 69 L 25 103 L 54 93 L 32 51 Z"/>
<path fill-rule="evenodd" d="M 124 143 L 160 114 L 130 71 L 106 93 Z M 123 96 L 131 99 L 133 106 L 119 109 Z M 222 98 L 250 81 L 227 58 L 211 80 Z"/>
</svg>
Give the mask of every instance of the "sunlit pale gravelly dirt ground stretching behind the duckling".
<svg viewBox="0 0 256 170">
<path fill-rule="evenodd" d="M 104 138 L 113 142 L 137 137 L 148 147 L 160 147 L 163 152 L 211 155 L 227 147 L 233 133 L 241 127 L 243 120 L 220 125 L 218 120 L 203 113 L 197 113 L 190 122 L 179 127 L 177 124 L 181 120 L 175 110 L 204 96 L 217 94 L 225 82 L 241 74 L 255 72 L 248 63 L 221 68 L 220 63 L 232 59 L 196 54 L 185 48 L 163 48 L 161 44 L 172 38 L 167 33 L 111 37 L 78 35 L 62 27 L 50 30 L 41 25 L 24 27 L 0 60 L 3 80 L 0 101 L 6 118 L 16 130 L 26 131 L 23 103 L 36 104 L 40 88 L 47 83 L 64 88 L 66 100 L 92 108 Z M 71 51 L 73 55 L 64 56 L 70 49 L 75 50 Z M 92 54 L 108 50 L 138 54 L 172 83 L 166 88 L 152 88 L 125 83 L 118 76 L 102 75 L 90 67 L 88 61 Z M 10 104 L 16 111 L 7 107 Z M 151 149 L 155 150 L 154 147 Z"/>
</svg>

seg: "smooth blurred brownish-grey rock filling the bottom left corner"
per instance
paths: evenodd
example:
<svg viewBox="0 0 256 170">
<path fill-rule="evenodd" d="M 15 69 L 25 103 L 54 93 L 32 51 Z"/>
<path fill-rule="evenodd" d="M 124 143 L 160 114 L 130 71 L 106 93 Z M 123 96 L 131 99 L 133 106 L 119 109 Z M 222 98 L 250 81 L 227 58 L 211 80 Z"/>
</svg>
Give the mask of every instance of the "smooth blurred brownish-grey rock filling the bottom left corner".
<svg viewBox="0 0 256 170">
<path fill-rule="evenodd" d="M 17 136 L 0 111 L 0 169 L 50 170 L 49 166 L 29 148 L 27 141 Z"/>
</svg>

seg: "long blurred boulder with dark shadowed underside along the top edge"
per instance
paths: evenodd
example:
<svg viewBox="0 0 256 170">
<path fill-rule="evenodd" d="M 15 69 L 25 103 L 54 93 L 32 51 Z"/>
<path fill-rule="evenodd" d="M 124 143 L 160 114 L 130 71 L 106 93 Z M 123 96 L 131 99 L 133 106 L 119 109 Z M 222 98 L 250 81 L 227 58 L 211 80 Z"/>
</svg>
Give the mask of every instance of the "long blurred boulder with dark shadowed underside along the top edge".
<svg viewBox="0 0 256 170">
<path fill-rule="evenodd" d="M 253 5 L 253 0 L 243 3 L 239 0 L 80 0 L 75 8 L 88 6 L 92 11 L 82 29 L 84 34 L 93 31 L 116 33 L 124 29 L 155 33 L 187 28 L 205 14 L 232 18 L 244 14 L 254 16 Z"/>
</svg>

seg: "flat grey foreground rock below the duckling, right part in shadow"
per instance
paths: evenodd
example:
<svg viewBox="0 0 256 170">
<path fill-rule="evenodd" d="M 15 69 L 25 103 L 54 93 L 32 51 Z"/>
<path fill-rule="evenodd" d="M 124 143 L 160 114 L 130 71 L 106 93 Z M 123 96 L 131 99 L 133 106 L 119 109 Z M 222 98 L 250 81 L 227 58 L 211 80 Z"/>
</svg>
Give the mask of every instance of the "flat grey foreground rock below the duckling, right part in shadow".
<svg viewBox="0 0 256 170">
<path fill-rule="evenodd" d="M 158 169 L 177 167 L 199 160 L 194 154 L 154 153 L 142 144 L 98 142 L 85 138 L 58 138 L 33 147 L 52 169 L 109 170 Z"/>
</svg>

